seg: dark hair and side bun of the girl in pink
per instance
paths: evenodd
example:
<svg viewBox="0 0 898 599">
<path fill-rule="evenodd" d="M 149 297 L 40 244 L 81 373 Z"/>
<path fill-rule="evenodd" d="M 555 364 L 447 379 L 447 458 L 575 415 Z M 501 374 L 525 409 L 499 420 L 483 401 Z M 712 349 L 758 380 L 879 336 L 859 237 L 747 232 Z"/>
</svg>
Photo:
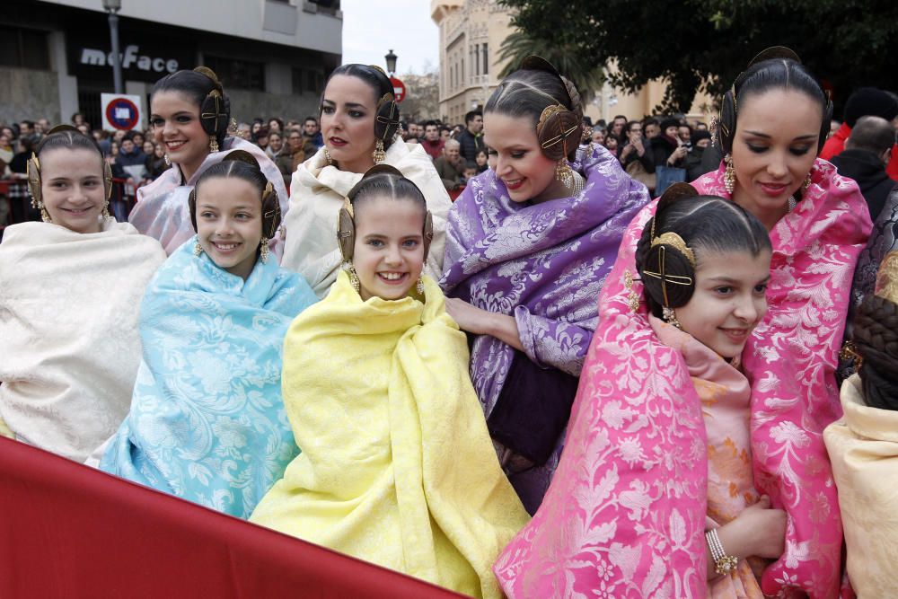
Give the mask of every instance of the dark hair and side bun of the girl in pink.
<svg viewBox="0 0 898 599">
<path fill-rule="evenodd" d="M 679 235 L 697 265 L 709 253 L 747 251 L 758 256 L 762 251 L 772 251 L 767 229 L 743 207 L 718 196 L 700 196 L 689 183 L 675 183 L 658 200 L 655 216 L 647 222 L 636 246 L 636 269 L 648 310 L 659 318 L 665 305 L 662 280 L 647 275 L 647 271 L 691 279 L 691 285 L 667 284 L 670 308 L 688 304 L 696 283 L 696 268 L 679 248 L 668 243 L 652 245 L 653 239 L 664 233 Z"/>
</svg>

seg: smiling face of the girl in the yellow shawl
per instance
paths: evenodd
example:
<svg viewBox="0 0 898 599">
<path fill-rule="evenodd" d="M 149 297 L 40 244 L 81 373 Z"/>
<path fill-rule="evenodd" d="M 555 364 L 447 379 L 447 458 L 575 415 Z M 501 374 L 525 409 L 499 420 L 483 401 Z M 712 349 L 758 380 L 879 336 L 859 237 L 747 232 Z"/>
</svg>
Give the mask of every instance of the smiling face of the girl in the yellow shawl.
<svg viewBox="0 0 898 599">
<path fill-rule="evenodd" d="M 424 269 L 425 208 L 413 199 L 378 196 L 355 206 L 352 262 L 362 300 L 401 299 Z"/>
</svg>

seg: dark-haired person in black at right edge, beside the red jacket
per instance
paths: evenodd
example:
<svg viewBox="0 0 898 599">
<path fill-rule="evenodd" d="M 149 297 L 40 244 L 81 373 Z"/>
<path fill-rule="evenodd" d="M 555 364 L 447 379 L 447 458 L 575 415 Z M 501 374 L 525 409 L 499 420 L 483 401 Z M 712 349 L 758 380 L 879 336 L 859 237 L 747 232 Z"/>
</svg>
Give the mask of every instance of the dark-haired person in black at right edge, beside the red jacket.
<svg viewBox="0 0 898 599">
<path fill-rule="evenodd" d="M 860 193 L 867 200 L 870 218 L 874 221 L 895 186 L 885 172 L 894 141 L 892 123 L 881 117 L 861 117 L 851 129 L 845 149 L 841 154 L 832 156 L 832 163 L 839 169 L 839 174 L 858 182 Z"/>
</svg>

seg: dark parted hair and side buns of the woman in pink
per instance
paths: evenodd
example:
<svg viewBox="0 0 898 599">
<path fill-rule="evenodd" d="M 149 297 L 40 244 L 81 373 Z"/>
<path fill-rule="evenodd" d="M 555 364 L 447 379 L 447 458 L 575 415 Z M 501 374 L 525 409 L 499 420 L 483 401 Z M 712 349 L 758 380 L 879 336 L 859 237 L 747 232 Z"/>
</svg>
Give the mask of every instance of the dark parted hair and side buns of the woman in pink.
<svg viewBox="0 0 898 599">
<path fill-rule="evenodd" d="M 794 90 L 820 104 L 821 125 L 817 151 L 823 149 L 823 142 L 830 132 L 832 102 L 823 93 L 823 88 L 814 75 L 802 65 L 797 55 L 788 48 L 768 48 L 754 57 L 745 71 L 736 77 L 733 87 L 724 94 L 720 107 L 720 144 L 726 154 L 733 152 L 733 139 L 739 110 L 753 95 L 761 95 L 771 90 Z M 735 96 L 734 96 L 735 92 Z"/>
</svg>

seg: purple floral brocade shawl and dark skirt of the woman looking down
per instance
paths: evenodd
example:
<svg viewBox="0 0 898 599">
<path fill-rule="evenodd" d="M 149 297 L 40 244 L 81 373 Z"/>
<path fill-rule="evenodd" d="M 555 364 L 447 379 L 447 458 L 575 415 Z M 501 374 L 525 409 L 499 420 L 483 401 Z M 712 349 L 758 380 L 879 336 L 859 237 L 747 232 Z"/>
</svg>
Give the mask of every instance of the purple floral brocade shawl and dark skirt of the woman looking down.
<svg viewBox="0 0 898 599">
<path fill-rule="evenodd" d="M 515 360 L 572 377 L 573 400 L 598 320 L 596 298 L 621 235 L 649 200 L 646 187 L 630 179 L 605 148 L 595 146 L 592 154 L 578 156 L 578 163 L 585 189 L 576 197 L 517 203 L 490 169 L 469 182 L 449 212 L 441 281 L 445 294 L 514 316 L 524 345 L 521 356 L 489 335 L 473 342 L 471 379 L 488 418 Z M 511 399 L 518 401 L 519 418 L 540 418 L 520 398 Z M 545 463 L 511 475 L 531 513 L 540 506 L 558 464 L 566 422 L 564 414 Z"/>
</svg>

